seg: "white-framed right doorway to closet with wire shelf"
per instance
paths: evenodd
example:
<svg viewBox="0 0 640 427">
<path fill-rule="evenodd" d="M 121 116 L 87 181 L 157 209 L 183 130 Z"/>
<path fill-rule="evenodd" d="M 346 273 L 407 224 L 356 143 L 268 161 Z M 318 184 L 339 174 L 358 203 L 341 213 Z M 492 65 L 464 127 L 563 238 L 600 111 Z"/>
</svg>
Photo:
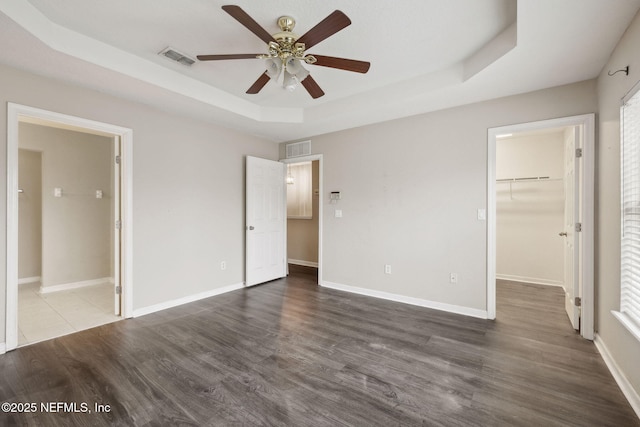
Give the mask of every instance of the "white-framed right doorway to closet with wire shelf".
<svg viewBox="0 0 640 427">
<path fill-rule="evenodd" d="M 545 292 L 593 339 L 593 141 L 592 114 L 489 129 L 489 318 L 496 280 L 556 286 Z"/>
</svg>

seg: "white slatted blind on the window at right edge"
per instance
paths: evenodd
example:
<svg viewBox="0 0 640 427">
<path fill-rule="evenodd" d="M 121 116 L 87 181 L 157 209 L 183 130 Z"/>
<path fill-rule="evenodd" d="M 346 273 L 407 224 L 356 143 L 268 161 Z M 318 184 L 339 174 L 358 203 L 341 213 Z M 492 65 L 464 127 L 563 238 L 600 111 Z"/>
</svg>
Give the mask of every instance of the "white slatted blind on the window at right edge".
<svg viewBox="0 0 640 427">
<path fill-rule="evenodd" d="M 622 247 L 620 312 L 640 328 L 640 92 L 621 108 Z"/>
</svg>

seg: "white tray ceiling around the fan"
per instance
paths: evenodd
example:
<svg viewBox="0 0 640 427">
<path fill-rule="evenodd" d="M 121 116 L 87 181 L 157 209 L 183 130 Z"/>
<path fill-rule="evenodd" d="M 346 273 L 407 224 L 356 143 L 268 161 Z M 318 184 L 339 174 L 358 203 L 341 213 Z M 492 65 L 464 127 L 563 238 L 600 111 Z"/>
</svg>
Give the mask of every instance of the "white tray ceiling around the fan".
<svg viewBox="0 0 640 427">
<path fill-rule="evenodd" d="M 309 53 L 371 62 L 367 74 L 308 66 L 326 95 L 269 82 L 257 59 L 196 62 L 157 53 L 262 53 L 221 9 L 270 33 L 304 34 L 333 10 L 352 25 Z M 596 77 L 640 0 L 13 0 L 0 3 L 0 63 L 240 129 L 301 139 Z M 621 67 L 627 64 L 620 64 Z"/>
</svg>

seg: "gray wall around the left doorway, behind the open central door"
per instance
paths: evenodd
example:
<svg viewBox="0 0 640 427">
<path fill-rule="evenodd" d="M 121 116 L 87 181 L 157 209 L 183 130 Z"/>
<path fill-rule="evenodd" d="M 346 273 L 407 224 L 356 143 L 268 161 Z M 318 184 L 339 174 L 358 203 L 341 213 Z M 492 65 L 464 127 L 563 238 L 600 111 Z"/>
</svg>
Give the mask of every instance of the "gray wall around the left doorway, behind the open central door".
<svg viewBox="0 0 640 427">
<path fill-rule="evenodd" d="M 278 158 L 257 137 L 0 66 L 0 117 L 7 102 L 133 129 L 133 307 L 140 309 L 244 280 L 244 158 Z M 0 120 L 0 164 L 6 164 Z M 0 174 L 0 223 L 6 223 Z M 6 259 L 6 228 L 0 227 Z M 220 269 L 220 261 L 227 269 Z M 6 264 L 0 263 L 0 342 Z"/>
</svg>

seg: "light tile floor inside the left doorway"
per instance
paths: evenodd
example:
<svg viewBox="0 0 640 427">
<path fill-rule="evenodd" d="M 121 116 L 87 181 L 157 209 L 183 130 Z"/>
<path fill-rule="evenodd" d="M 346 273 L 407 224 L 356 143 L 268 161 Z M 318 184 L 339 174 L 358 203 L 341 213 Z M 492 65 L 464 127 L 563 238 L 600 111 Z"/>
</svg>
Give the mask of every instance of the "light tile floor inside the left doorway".
<svg viewBox="0 0 640 427">
<path fill-rule="evenodd" d="M 113 314 L 113 285 L 103 283 L 40 294 L 40 283 L 18 290 L 18 346 L 120 320 Z"/>
</svg>

